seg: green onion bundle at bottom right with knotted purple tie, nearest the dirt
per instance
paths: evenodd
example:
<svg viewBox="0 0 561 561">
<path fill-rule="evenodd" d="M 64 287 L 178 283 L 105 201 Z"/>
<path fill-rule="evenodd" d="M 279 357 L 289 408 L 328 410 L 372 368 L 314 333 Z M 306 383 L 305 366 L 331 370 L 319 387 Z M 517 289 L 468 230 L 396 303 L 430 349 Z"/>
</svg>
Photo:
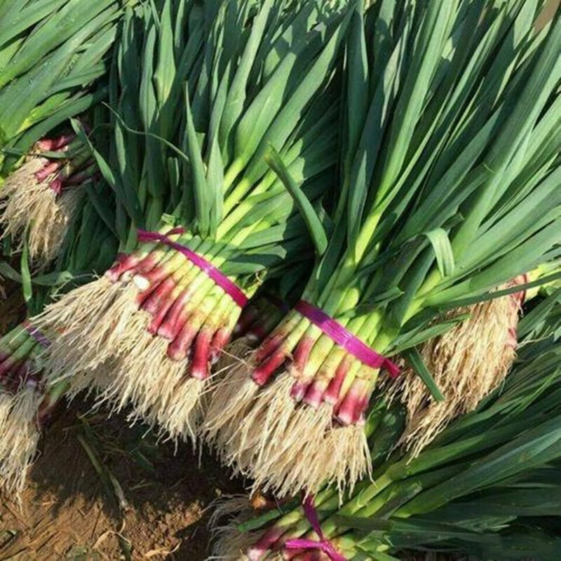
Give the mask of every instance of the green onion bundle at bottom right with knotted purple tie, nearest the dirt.
<svg viewBox="0 0 561 561">
<path fill-rule="evenodd" d="M 215 554 L 230 560 L 401 558 L 403 550 L 478 558 L 554 560 L 560 553 L 560 297 L 557 290 L 520 323 L 520 357 L 505 385 L 478 410 L 447 427 L 418 457 L 388 451 L 404 428 L 395 405 L 368 425 L 375 482 L 339 505 L 322 489 L 304 506 L 248 509 L 217 527 Z M 243 506 L 240 499 L 217 508 Z"/>
</svg>

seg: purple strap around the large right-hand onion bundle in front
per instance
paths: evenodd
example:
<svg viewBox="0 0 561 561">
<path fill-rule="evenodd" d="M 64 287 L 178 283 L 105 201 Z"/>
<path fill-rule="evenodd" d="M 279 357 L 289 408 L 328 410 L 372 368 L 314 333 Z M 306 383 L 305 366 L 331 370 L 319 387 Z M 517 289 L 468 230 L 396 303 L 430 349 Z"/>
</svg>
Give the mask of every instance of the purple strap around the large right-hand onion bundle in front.
<svg viewBox="0 0 561 561">
<path fill-rule="evenodd" d="M 399 367 L 396 363 L 370 349 L 369 346 L 346 330 L 338 321 L 327 316 L 327 313 L 324 311 L 305 300 L 299 300 L 295 310 L 301 313 L 304 318 L 308 318 L 311 323 L 317 325 L 328 337 L 331 337 L 345 351 L 358 358 L 361 363 L 371 368 L 384 368 L 391 378 L 398 376 Z"/>
</svg>

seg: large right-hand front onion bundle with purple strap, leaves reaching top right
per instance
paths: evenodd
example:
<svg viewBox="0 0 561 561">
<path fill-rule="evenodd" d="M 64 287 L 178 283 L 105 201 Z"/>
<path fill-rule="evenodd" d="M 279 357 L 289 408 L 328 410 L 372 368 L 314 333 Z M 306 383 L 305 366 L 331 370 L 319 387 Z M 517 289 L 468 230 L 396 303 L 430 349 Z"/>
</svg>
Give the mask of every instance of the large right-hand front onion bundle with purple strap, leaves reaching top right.
<svg viewBox="0 0 561 561">
<path fill-rule="evenodd" d="M 461 319 L 447 310 L 556 257 L 561 25 L 537 33 L 539 8 L 356 9 L 330 243 L 206 418 L 256 487 L 352 486 L 370 471 L 364 424 L 380 370 L 396 370 L 388 357 L 402 353 L 438 398 L 414 347 Z"/>
</svg>

